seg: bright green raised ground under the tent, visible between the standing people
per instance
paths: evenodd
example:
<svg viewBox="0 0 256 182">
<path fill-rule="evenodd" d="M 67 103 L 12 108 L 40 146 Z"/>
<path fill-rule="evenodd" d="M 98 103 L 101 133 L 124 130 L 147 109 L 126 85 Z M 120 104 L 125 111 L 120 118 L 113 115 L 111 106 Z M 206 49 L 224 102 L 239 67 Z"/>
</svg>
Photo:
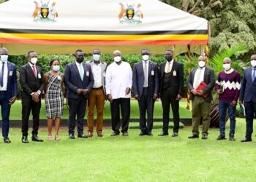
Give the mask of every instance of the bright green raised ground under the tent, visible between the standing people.
<svg viewBox="0 0 256 182">
<path fill-rule="evenodd" d="M 191 112 L 186 109 L 187 101 L 181 100 L 180 102 L 180 116 L 181 118 L 191 118 Z M 87 109 L 86 109 L 87 111 Z M 68 119 L 68 110 L 67 106 L 64 105 L 64 116 L 62 119 Z M 139 118 L 139 106 L 137 100 L 131 100 L 131 119 Z M 96 111 L 94 115 L 97 116 Z M 86 115 L 87 116 L 87 115 Z M 104 108 L 104 119 L 110 119 L 110 103 L 107 102 Z M 154 118 L 161 119 L 162 118 L 162 105 L 161 102 L 157 101 L 154 106 Z M 170 111 L 170 118 L 173 118 L 173 113 Z M 40 119 L 47 119 L 45 115 L 45 102 L 42 100 L 42 107 L 40 112 Z M 21 120 L 21 100 L 16 100 L 12 105 L 10 120 Z"/>
</svg>

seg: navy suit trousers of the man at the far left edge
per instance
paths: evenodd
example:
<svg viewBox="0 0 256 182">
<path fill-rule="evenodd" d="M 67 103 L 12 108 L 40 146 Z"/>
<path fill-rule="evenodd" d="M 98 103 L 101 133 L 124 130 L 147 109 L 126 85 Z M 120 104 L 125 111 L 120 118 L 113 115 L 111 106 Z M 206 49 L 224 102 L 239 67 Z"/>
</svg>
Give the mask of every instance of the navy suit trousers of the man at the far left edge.
<svg viewBox="0 0 256 182">
<path fill-rule="evenodd" d="M 9 116 L 10 108 L 9 101 L 6 99 L 6 93 L 0 91 L 0 105 L 1 105 L 1 133 L 3 137 L 8 137 L 9 133 Z"/>
</svg>

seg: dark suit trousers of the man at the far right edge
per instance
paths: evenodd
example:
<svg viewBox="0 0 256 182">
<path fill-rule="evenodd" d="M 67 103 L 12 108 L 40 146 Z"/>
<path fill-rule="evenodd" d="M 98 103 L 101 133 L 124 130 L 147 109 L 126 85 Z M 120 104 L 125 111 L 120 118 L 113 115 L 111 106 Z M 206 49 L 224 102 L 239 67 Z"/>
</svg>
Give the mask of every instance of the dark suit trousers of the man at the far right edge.
<svg viewBox="0 0 256 182">
<path fill-rule="evenodd" d="M 253 118 L 256 116 L 256 103 L 252 100 L 244 102 L 245 115 L 246 115 L 246 138 L 252 138 L 253 132 Z"/>
</svg>

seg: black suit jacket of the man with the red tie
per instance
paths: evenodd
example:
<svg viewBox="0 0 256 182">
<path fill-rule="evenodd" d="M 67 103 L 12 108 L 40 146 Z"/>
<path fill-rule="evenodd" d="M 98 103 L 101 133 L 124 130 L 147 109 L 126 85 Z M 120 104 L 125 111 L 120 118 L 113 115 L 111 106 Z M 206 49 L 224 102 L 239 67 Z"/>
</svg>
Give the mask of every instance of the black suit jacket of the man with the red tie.
<svg viewBox="0 0 256 182">
<path fill-rule="evenodd" d="M 40 66 L 36 65 L 36 69 L 37 77 L 34 76 L 34 72 L 29 63 L 26 63 L 26 65 L 20 68 L 21 98 L 31 98 L 31 93 L 37 92 L 38 90 L 42 92 L 44 88 L 44 74 Z M 39 98 L 41 95 L 42 94 L 39 95 Z"/>
</svg>

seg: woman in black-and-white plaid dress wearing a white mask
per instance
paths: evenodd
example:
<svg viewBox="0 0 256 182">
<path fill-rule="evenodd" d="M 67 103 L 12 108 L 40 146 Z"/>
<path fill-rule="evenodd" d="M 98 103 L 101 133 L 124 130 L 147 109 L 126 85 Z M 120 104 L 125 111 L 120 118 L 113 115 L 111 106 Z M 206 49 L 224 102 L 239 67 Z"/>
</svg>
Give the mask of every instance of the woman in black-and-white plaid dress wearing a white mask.
<svg viewBox="0 0 256 182">
<path fill-rule="evenodd" d="M 55 121 L 55 140 L 59 141 L 59 126 L 61 116 L 63 116 L 64 96 L 62 92 L 62 84 L 64 74 L 59 71 L 59 60 L 53 59 L 50 61 L 51 70 L 45 74 L 45 110 L 48 117 L 48 140 L 52 141 L 51 134 L 53 120 Z"/>
</svg>

